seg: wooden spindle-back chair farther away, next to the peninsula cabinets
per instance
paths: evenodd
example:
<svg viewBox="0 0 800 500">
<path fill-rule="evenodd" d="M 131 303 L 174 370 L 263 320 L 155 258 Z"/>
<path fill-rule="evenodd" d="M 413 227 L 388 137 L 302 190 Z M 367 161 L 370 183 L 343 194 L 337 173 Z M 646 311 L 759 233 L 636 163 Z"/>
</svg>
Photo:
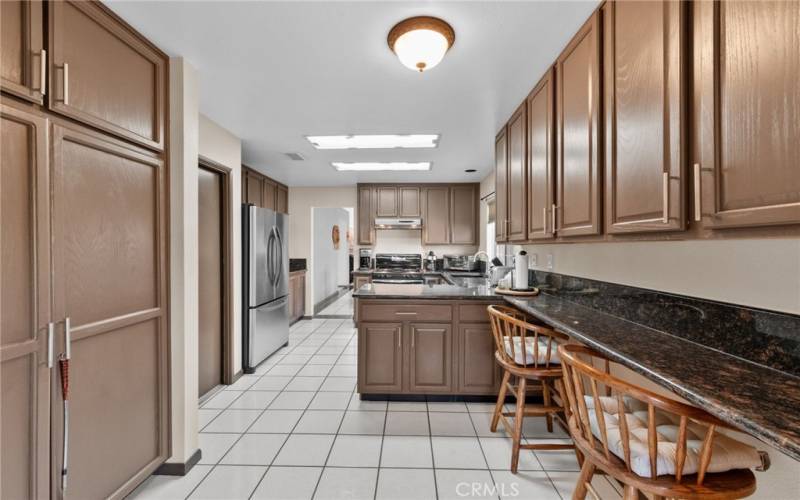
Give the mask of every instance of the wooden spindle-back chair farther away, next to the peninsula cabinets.
<svg viewBox="0 0 800 500">
<path fill-rule="evenodd" d="M 535 325 L 526 320 L 525 315 L 510 307 L 491 305 L 487 308 L 492 325 L 492 335 L 496 347 L 495 359 L 503 369 L 503 380 L 497 396 L 490 429 L 497 431 L 497 424 L 502 423 L 512 438 L 511 472 L 517 472 L 519 452 L 529 450 L 561 450 L 574 448 L 571 444 L 521 444 L 522 422 L 526 416 L 544 416 L 548 432 L 553 432 L 553 419 L 559 418 L 564 411 L 562 406 L 562 389 L 559 380 L 562 377 L 558 364 L 558 342 L 568 337 L 546 326 Z M 511 383 L 514 377 L 517 385 Z M 529 389 L 528 380 L 540 384 L 543 404 L 526 404 Z M 514 412 L 504 412 L 506 394 L 511 391 L 516 397 Z M 514 417 L 514 425 L 507 417 Z M 564 427 L 566 421 L 561 420 Z"/>
</svg>

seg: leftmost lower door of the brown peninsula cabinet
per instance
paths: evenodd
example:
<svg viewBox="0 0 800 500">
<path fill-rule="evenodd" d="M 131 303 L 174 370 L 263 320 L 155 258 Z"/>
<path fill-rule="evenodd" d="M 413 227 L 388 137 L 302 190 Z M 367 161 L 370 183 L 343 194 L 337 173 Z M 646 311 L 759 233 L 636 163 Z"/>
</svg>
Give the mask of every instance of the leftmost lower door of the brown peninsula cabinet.
<svg viewBox="0 0 800 500">
<path fill-rule="evenodd" d="M 387 393 L 403 389 L 403 324 L 358 325 L 358 392 Z"/>
</svg>

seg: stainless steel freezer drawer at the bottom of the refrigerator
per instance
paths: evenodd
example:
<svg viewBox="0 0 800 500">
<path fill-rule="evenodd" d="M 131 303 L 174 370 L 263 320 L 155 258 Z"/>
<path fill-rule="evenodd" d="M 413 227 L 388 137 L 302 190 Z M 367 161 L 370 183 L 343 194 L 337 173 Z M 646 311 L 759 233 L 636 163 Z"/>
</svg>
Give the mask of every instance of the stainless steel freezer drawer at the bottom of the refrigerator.
<svg viewBox="0 0 800 500">
<path fill-rule="evenodd" d="M 250 309 L 247 365 L 255 367 L 289 341 L 289 298 Z"/>
</svg>

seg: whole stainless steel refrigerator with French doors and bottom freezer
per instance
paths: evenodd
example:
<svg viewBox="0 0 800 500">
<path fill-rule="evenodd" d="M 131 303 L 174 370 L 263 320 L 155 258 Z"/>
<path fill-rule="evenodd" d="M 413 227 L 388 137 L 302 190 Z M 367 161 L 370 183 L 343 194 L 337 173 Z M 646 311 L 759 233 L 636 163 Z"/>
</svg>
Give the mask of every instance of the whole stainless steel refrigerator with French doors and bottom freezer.
<svg viewBox="0 0 800 500">
<path fill-rule="evenodd" d="M 243 370 L 256 366 L 289 341 L 288 216 L 242 206 Z"/>
</svg>

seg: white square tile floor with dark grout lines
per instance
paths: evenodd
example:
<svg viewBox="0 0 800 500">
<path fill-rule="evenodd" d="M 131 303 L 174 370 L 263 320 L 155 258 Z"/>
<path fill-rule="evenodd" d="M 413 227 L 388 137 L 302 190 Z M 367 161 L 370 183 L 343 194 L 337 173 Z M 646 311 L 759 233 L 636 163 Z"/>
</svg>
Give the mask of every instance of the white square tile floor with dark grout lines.
<svg viewBox="0 0 800 500">
<path fill-rule="evenodd" d="M 562 499 L 578 476 L 568 451 L 523 451 L 489 431 L 492 404 L 361 401 L 352 320 L 296 323 L 286 347 L 200 409 L 203 458 L 153 476 L 132 498 Z M 542 419 L 528 442 L 565 439 Z M 603 476 L 604 500 L 620 498 Z"/>
</svg>

